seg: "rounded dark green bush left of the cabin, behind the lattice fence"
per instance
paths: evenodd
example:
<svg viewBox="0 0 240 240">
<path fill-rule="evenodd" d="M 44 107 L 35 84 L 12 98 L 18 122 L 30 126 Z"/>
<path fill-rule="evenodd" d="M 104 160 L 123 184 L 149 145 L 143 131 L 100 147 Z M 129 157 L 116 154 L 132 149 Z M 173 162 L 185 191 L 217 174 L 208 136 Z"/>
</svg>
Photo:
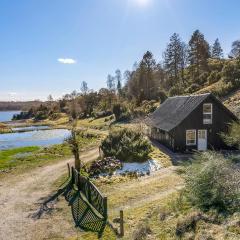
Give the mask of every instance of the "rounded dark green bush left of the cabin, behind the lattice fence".
<svg viewBox="0 0 240 240">
<path fill-rule="evenodd" d="M 151 145 L 141 133 L 121 129 L 110 132 L 101 149 L 106 157 L 116 157 L 125 162 L 143 162 L 149 158 Z"/>
</svg>

